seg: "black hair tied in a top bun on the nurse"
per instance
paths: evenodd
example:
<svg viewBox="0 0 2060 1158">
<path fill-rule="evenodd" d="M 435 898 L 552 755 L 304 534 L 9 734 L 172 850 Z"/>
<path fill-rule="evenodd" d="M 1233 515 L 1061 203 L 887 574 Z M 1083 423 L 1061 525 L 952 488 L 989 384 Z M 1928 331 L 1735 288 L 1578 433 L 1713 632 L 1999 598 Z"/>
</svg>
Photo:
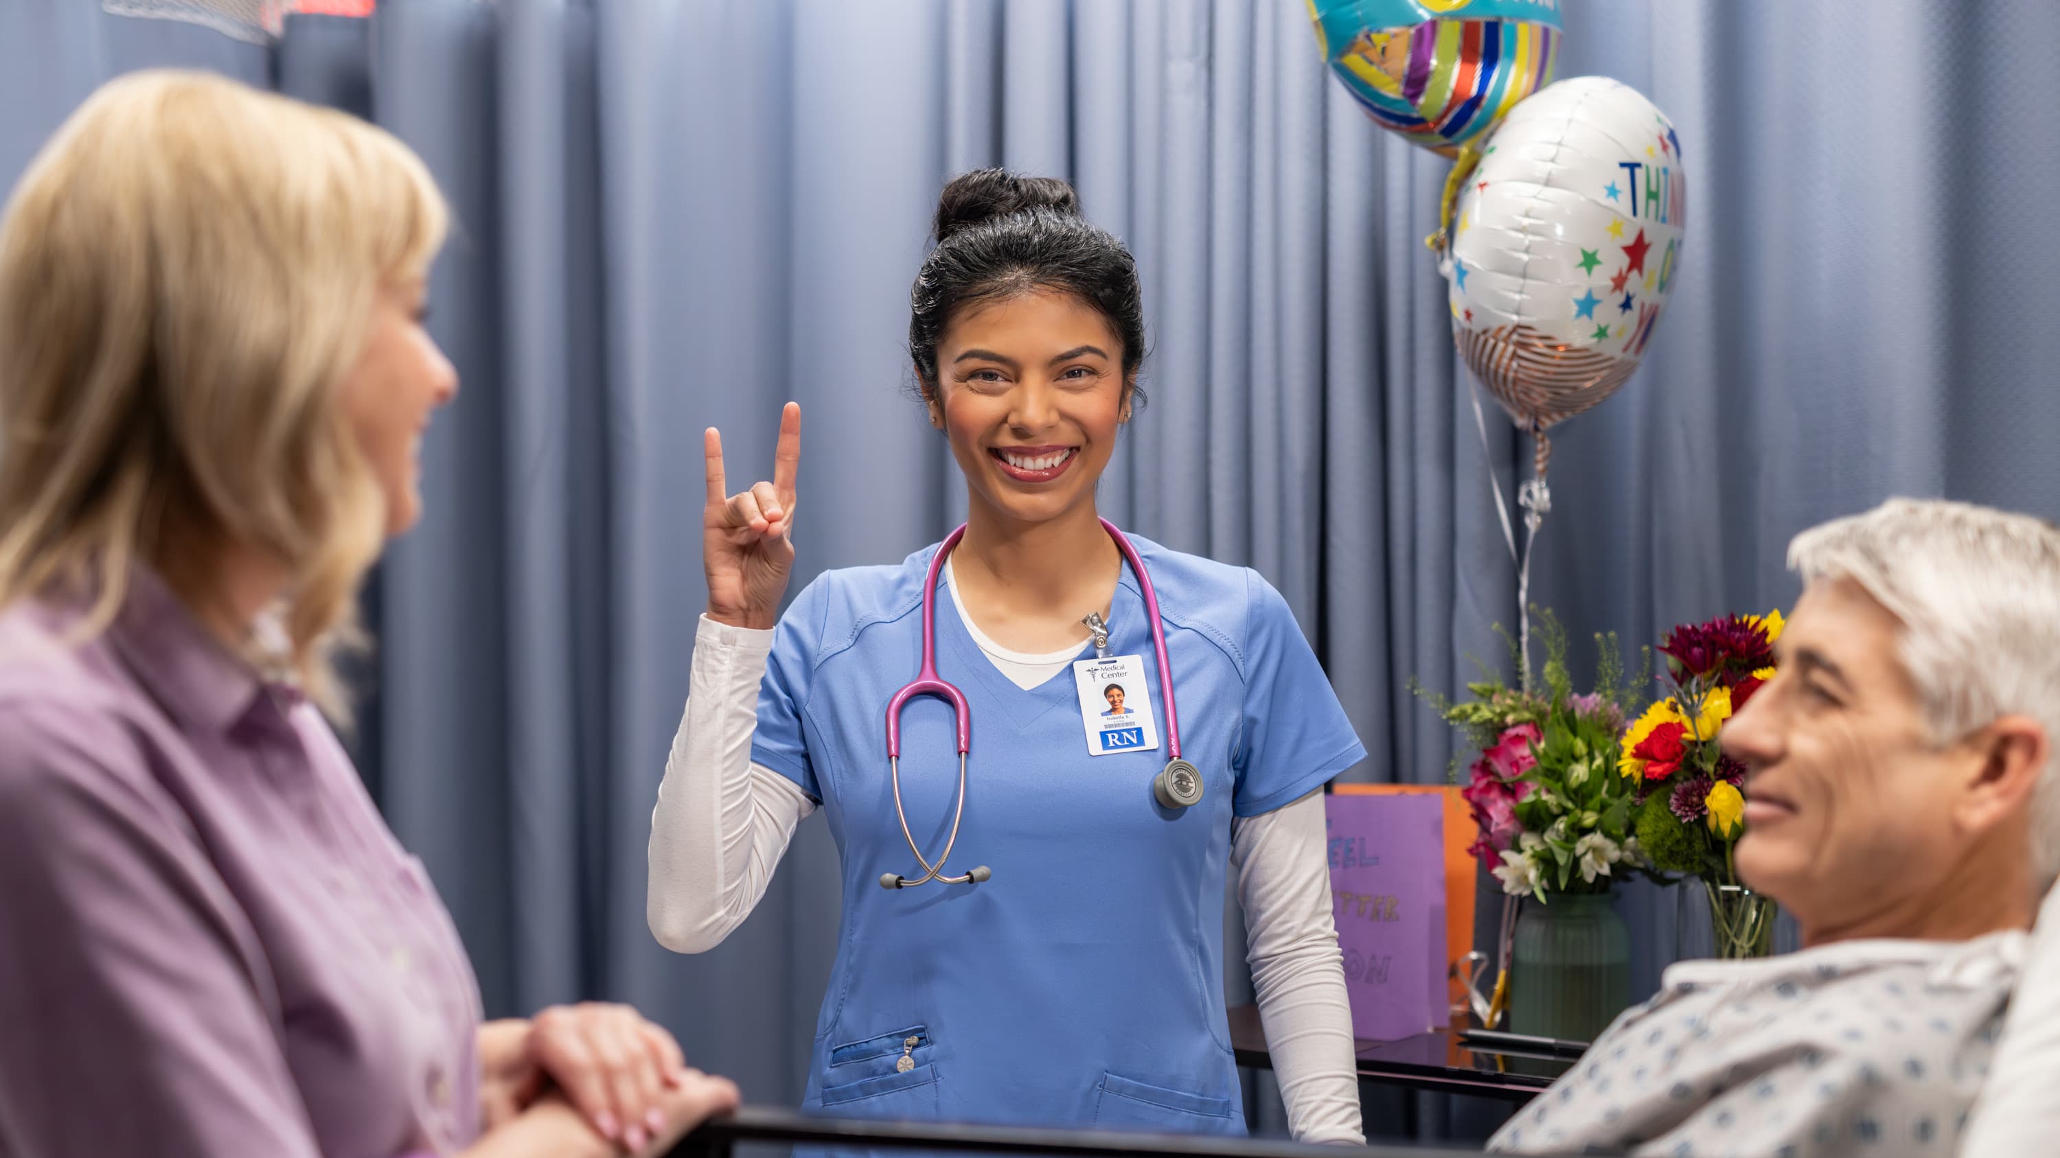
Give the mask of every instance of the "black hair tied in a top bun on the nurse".
<svg viewBox="0 0 2060 1158">
<path fill-rule="evenodd" d="M 923 398 L 935 400 L 937 342 L 968 305 L 1061 291 L 1102 311 L 1123 342 L 1123 377 L 1145 359 L 1137 262 L 1106 229 L 1079 216 L 1079 194 L 1057 177 L 1007 169 L 960 173 L 937 198 L 937 247 L 908 291 L 908 354 Z M 1133 406 L 1143 404 L 1135 391 Z"/>
</svg>

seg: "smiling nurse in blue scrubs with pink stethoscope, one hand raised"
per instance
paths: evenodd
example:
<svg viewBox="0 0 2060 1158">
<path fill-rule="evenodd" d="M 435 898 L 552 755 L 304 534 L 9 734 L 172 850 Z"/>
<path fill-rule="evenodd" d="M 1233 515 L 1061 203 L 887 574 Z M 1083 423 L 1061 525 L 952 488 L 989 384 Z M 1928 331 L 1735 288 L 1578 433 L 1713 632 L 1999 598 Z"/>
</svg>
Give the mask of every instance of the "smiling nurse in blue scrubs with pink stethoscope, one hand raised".
<svg viewBox="0 0 2060 1158">
<path fill-rule="evenodd" d="M 1123 243 L 1067 183 L 1003 171 L 943 190 L 935 241 L 908 346 L 966 476 L 962 538 L 822 573 L 779 614 L 799 408 L 772 480 L 735 495 L 707 433 L 709 610 L 651 816 L 651 931 L 721 944 L 822 810 L 845 913 L 808 1109 L 1242 1133 L 1236 880 L 1290 1129 L 1362 1142 L 1323 785 L 1366 750 L 1265 579 L 1100 521 L 1143 404 Z M 931 649 L 970 744 L 962 760 L 958 713 L 923 694 L 896 764 L 890 703 Z M 1195 775 L 1168 804 L 1172 756 Z"/>
</svg>

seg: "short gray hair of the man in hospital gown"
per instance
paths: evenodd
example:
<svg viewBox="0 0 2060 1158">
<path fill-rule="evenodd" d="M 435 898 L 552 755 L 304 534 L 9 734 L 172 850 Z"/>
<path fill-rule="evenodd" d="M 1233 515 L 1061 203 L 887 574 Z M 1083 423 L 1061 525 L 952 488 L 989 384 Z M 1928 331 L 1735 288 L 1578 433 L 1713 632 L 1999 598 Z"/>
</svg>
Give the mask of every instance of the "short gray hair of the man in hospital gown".
<svg viewBox="0 0 2060 1158">
<path fill-rule="evenodd" d="M 2060 530 L 2046 519 L 1889 499 L 1798 534 L 1788 567 L 1805 583 L 1850 579 L 1901 620 L 1897 651 L 1936 744 L 2002 715 L 2060 744 Z M 2060 876 L 2052 758 L 2031 797 L 2031 870 L 2039 890 Z"/>
</svg>

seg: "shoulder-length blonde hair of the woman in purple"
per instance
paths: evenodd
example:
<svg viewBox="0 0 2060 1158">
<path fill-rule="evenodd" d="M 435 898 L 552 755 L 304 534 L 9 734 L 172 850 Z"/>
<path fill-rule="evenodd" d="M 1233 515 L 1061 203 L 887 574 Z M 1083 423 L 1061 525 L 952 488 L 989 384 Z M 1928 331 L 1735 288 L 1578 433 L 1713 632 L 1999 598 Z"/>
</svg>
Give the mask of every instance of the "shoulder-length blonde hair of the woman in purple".
<svg viewBox="0 0 2060 1158">
<path fill-rule="evenodd" d="M 445 227 L 422 161 L 346 113 L 200 72 L 87 99 L 0 218 L 0 606 L 68 589 L 95 633 L 136 563 L 200 606 L 247 544 L 290 573 L 284 659 L 348 715 L 385 497 L 338 394 Z"/>
</svg>

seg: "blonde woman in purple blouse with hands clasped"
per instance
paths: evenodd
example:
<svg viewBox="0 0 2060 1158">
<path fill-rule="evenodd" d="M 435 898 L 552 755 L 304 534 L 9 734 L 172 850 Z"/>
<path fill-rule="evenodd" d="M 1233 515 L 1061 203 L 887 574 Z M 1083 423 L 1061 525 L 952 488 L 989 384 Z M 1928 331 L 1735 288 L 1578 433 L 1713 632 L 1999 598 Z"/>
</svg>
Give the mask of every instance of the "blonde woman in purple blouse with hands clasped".
<svg viewBox="0 0 2060 1158">
<path fill-rule="evenodd" d="M 391 136 L 99 91 L 0 223 L 0 1154 L 657 1150 L 735 1088 L 618 1006 L 480 1024 L 321 711 L 457 389 Z"/>
</svg>

